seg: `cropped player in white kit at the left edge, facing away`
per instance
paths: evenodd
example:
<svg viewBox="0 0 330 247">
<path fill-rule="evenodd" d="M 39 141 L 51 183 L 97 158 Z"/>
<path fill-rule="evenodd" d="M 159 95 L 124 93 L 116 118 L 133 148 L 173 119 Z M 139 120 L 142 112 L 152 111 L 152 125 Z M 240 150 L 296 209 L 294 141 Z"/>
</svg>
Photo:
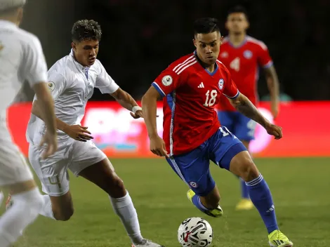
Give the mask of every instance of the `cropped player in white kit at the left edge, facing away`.
<svg viewBox="0 0 330 247">
<path fill-rule="evenodd" d="M 42 152 L 51 156 L 57 146 L 54 105 L 48 91 L 47 65 L 39 39 L 18 27 L 25 0 L 0 0 L 0 186 L 9 189 L 15 204 L 0 218 L 0 246 L 8 247 L 39 215 L 42 198 L 33 175 L 13 143 L 6 125 L 6 109 L 24 81 L 34 89 L 45 120 Z M 40 145 L 39 143 L 36 143 Z"/>
</svg>

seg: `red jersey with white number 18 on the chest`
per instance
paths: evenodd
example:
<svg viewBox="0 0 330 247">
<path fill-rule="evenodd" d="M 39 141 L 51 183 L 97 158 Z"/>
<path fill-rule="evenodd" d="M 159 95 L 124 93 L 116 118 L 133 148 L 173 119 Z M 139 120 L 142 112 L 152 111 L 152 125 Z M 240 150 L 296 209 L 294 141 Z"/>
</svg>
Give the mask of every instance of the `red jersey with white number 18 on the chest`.
<svg viewBox="0 0 330 247">
<path fill-rule="evenodd" d="M 220 95 L 239 95 L 225 65 L 217 61 L 210 73 L 195 53 L 169 65 L 152 86 L 164 97 L 163 139 L 171 155 L 190 152 L 216 133 L 220 123 L 215 107 Z"/>
</svg>

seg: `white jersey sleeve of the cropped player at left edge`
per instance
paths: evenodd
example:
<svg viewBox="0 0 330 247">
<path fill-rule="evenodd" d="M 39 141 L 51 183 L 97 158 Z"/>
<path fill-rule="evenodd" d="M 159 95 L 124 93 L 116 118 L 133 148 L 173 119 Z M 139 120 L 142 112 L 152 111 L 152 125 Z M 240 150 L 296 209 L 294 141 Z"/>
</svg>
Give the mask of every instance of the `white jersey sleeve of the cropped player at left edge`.
<svg viewBox="0 0 330 247">
<path fill-rule="evenodd" d="M 30 86 L 47 81 L 47 65 L 41 43 L 36 36 L 31 36 L 25 46 L 25 59 L 22 67 L 25 72 L 25 79 Z"/>
</svg>

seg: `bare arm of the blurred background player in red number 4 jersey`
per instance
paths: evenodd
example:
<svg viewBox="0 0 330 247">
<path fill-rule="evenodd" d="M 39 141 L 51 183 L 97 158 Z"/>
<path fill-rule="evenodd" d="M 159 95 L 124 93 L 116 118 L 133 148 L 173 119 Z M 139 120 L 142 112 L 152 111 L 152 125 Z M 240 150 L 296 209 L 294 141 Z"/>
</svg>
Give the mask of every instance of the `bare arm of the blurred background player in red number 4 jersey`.
<svg viewBox="0 0 330 247">
<path fill-rule="evenodd" d="M 279 114 L 279 79 L 274 65 L 265 68 L 265 77 L 270 91 L 271 111 L 274 119 Z"/>
</svg>

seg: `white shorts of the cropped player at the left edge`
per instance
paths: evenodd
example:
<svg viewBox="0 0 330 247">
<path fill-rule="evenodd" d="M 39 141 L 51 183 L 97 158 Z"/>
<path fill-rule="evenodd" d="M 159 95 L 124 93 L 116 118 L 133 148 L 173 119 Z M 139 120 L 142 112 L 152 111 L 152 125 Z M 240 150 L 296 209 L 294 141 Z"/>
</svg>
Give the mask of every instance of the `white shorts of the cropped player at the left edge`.
<svg viewBox="0 0 330 247">
<path fill-rule="evenodd" d="M 33 180 L 20 149 L 10 140 L 0 140 L 0 186 Z"/>
</svg>

